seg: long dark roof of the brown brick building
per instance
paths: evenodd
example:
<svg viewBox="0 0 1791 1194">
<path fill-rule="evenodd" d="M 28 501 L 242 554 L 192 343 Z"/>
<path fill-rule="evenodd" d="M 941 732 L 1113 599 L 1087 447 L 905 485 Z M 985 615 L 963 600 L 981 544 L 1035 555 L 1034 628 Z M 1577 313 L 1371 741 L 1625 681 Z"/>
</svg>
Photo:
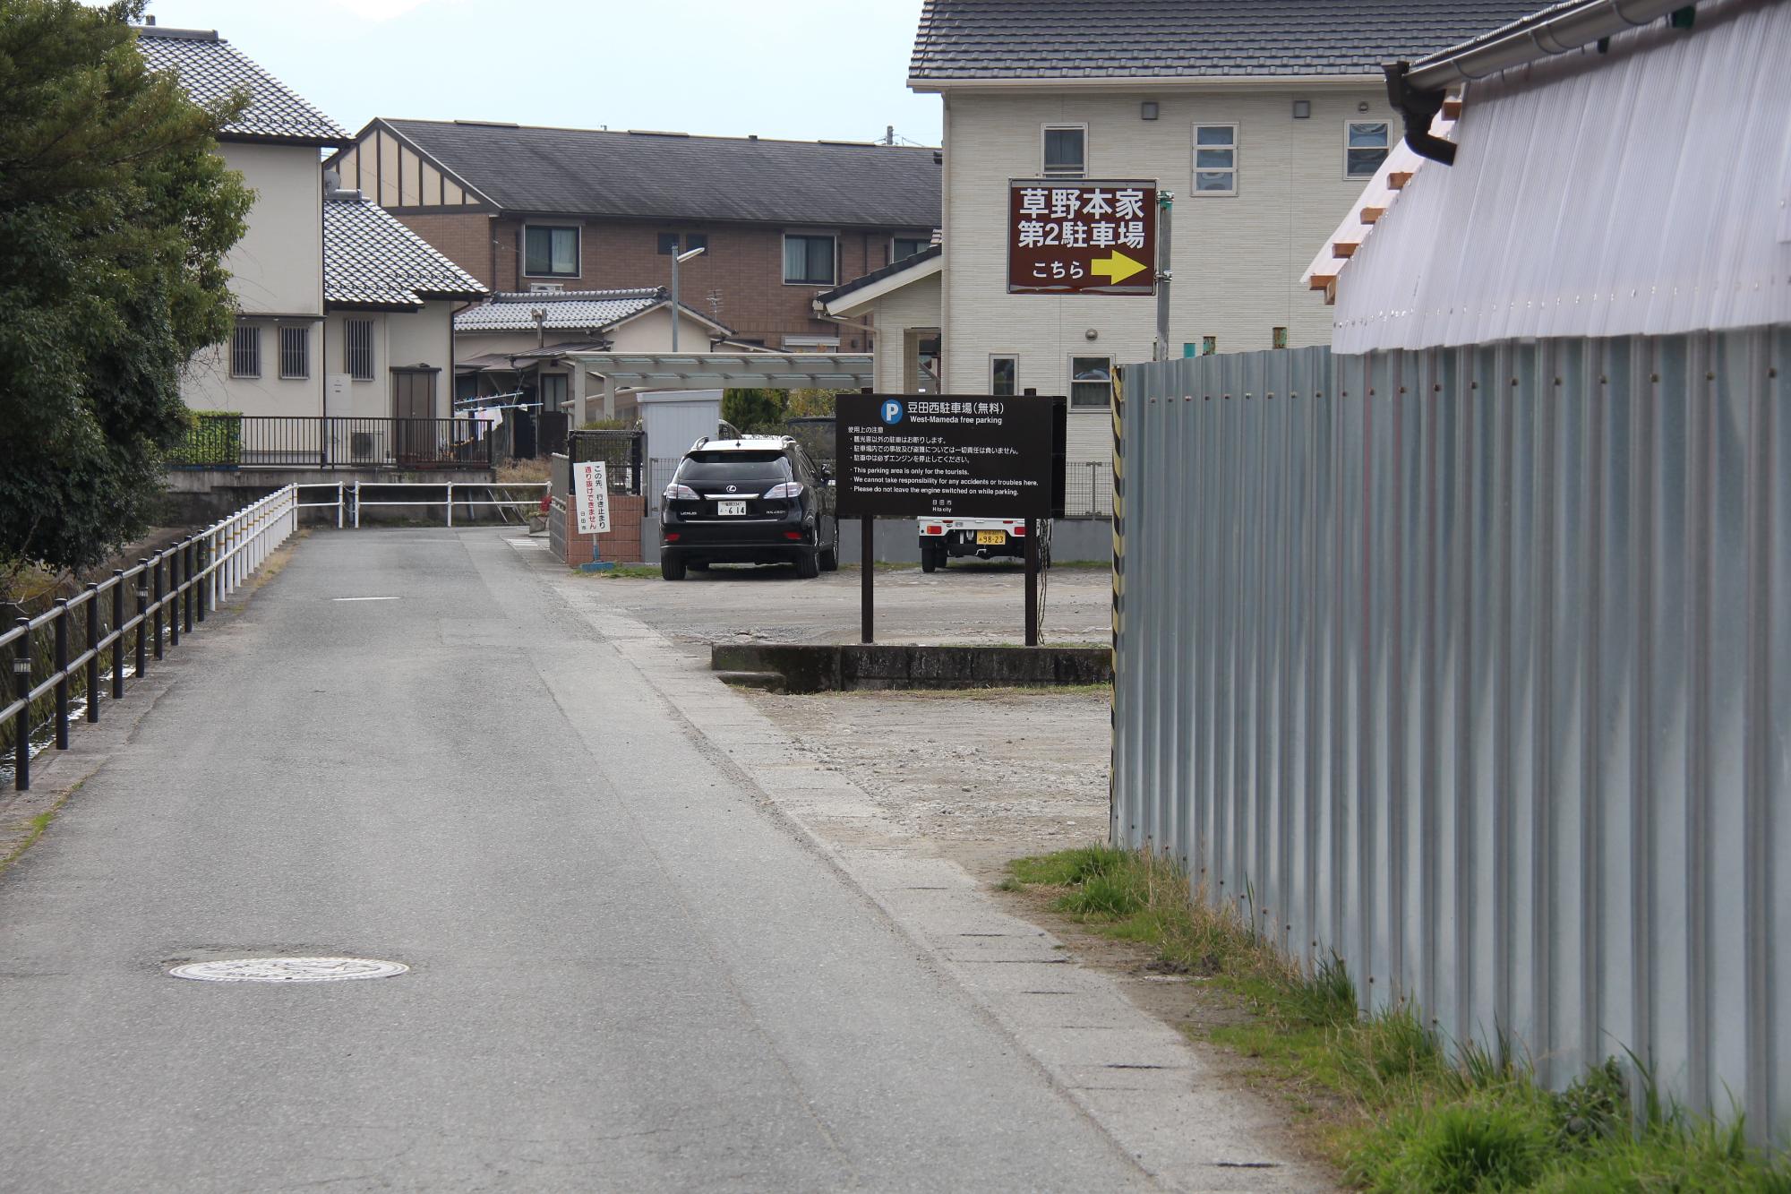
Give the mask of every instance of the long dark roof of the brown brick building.
<svg viewBox="0 0 1791 1194">
<path fill-rule="evenodd" d="M 380 122 L 509 212 L 937 228 L 931 149 L 682 133 Z"/>
</svg>

